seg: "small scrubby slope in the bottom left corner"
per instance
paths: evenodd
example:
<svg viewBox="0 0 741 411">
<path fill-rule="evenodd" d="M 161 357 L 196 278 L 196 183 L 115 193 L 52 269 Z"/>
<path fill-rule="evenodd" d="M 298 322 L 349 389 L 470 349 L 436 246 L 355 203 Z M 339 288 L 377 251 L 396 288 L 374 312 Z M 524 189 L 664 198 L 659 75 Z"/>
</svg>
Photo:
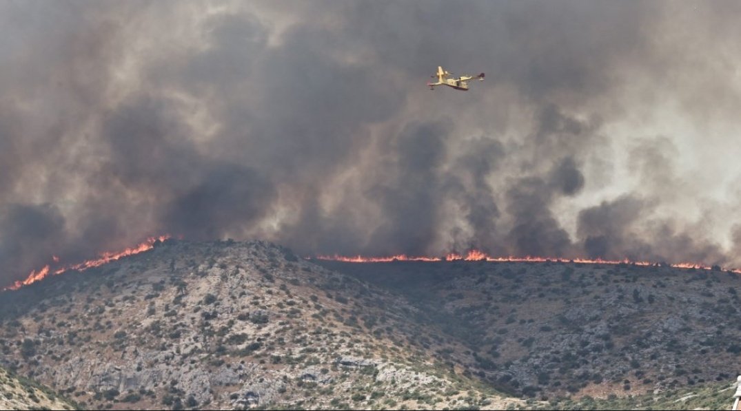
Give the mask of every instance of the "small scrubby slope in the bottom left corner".
<svg viewBox="0 0 741 411">
<path fill-rule="evenodd" d="M 47 387 L 0 367 L 0 410 L 76 410 Z"/>
</svg>

